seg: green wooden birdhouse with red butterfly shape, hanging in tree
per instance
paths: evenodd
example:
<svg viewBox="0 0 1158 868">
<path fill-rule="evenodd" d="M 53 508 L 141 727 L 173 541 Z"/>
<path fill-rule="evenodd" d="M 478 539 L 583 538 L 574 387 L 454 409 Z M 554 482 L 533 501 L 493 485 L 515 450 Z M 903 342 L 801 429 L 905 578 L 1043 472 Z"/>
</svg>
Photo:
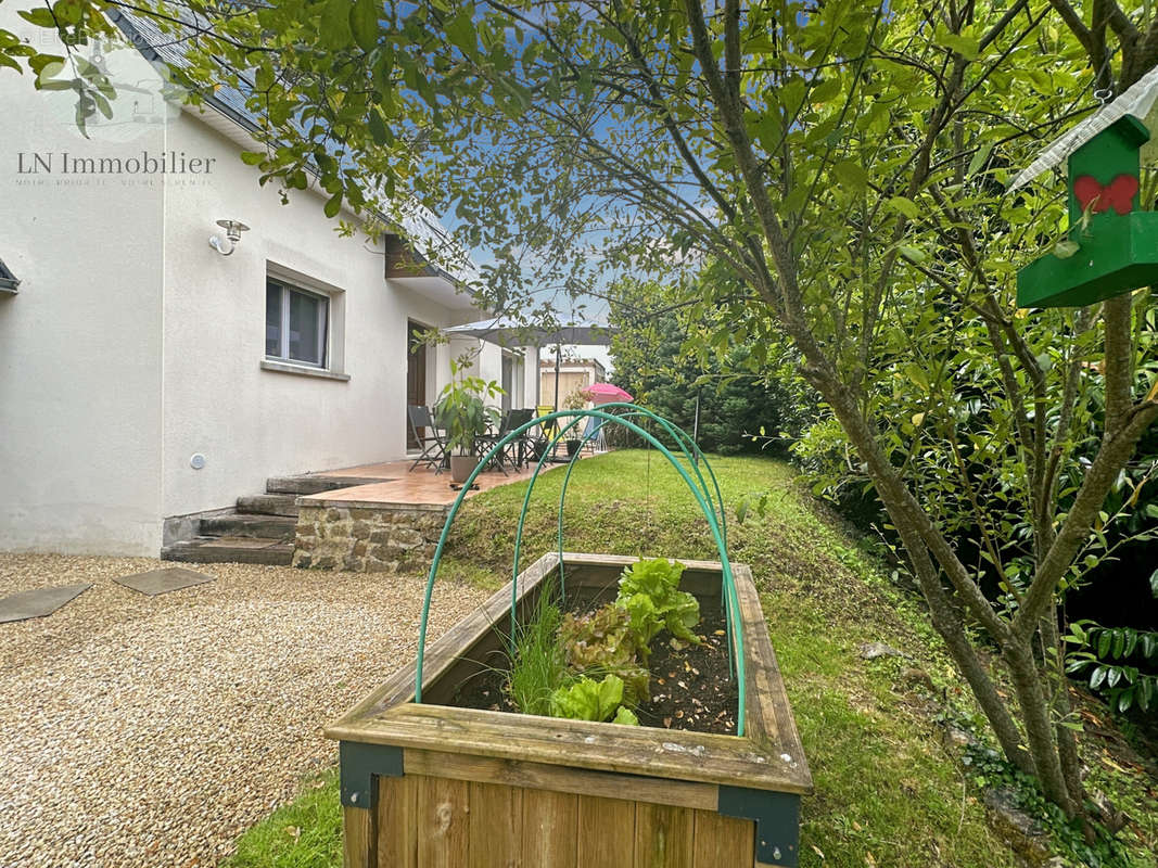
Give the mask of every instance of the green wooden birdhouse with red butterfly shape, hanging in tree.
<svg viewBox="0 0 1158 868">
<path fill-rule="evenodd" d="M 1138 148 L 1149 139 L 1123 115 L 1070 154 L 1070 229 L 1018 272 L 1018 307 L 1079 308 L 1158 285 L 1158 213 L 1138 209 Z"/>
</svg>

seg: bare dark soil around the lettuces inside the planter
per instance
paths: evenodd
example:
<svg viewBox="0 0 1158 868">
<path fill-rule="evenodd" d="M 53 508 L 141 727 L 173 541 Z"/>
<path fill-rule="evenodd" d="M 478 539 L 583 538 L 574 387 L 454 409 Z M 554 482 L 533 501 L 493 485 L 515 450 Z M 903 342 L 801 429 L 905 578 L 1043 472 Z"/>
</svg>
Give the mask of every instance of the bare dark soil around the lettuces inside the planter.
<svg viewBox="0 0 1158 868">
<path fill-rule="evenodd" d="M 588 606 L 573 611 L 580 615 Z M 699 645 L 673 640 L 667 631 L 651 645 L 651 701 L 635 708 L 645 727 L 689 729 L 696 733 L 735 734 L 739 693 L 731 677 L 724 613 L 718 605 L 701 603 L 696 634 Z M 494 667 L 459 687 L 452 705 L 518 712 L 506 692 L 505 657 L 485 661 Z"/>
</svg>

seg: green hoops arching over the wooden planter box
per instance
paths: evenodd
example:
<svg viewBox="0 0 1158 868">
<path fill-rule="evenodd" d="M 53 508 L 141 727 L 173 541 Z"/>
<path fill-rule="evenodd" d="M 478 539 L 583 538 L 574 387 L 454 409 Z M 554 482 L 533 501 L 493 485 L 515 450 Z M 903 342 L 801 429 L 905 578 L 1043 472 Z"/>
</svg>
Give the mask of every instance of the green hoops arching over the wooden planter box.
<svg viewBox="0 0 1158 868">
<path fill-rule="evenodd" d="M 607 406 L 607 405 L 601 405 L 601 406 Z M 617 404 L 615 406 L 620 406 L 620 407 L 624 407 L 624 409 L 630 409 L 632 411 L 632 413 L 631 413 L 632 415 L 644 415 L 646 418 L 655 419 L 657 421 L 660 421 L 660 424 L 664 425 L 664 427 L 667 428 L 669 432 L 674 427 L 674 426 L 670 425 L 670 422 L 667 422 L 667 420 L 660 419 L 660 417 L 655 415 L 651 411 L 645 410 L 643 407 L 639 407 L 639 406 L 637 406 L 635 404 Z M 419 627 L 419 634 L 418 634 L 418 655 L 417 655 L 416 671 L 415 671 L 415 701 L 416 703 L 422 703 L 423 663 L 424 663 L 425 650 L 426 650 L 426 632 L 427 632 L 428 619 L 430 619 L 431 597 L 432 597 L 433 591 L 434 591 L 434 579 L 435 579 L 435 576 L 438 574 L 439 564 L 442 560 L 442 552 L 444 552 L 444 550 L 446 547 L 446 540 L 447 540 L 447 537 L 449 536 L 450 525 L 454 523 L 454 518 L 457 515 L 459 509 L 462 507 L 462 502 L 466 500 L 467 493 L 470 491 L 470 486 L 474 485 L 474 481 L 478 477 L 478 475 L 482 472 L 482 469 L 494 457 L 494 455 L 497 455 L 507 444 L 510 444 L 511 442 L 513 442 L 516 437 L 522 436 L 522 434 L 525 434 L 527 431 L 529 431 L 530 428 L 535 427 L 536 425 L 541 426 L 543 422 L 555 421 L 557 419 L 563 419 L 564 417 L 569 419 L 570 424 L 567 424 L 565 427 L 563 427 L 562 431 L 558 432 L 558 434 L 551 441 L 551 446 L 552 447 L 558 443 L 558 441 L 566 434 L 567 431 L 570 431 L 571 428 L 573 428 L 576 425 L 578 425 L 584 419 L 596 418 L 596 419 L 602 419 L 604 422 L 608 422 L 608 421 L 615 422 L 616 425 L 621 425 L 621 426 L 628 428 L 629 431 L 636 433 L 637 435 L 639 435 L 640 437 L 643 437 L 645 441 L 647 441 L 648 443 L 651 443 L 657 450 L 659 450 L 664 455 L 664 457 L 666 457 L 668 459 L 668 463 L 676 470 L 676 472 L 680 473 L 680 476 L 683 478 L 683 481 L 688 485 L 688 488 L 691 490 L 692 495 L 695 495 L 696 501 L 699 503 L 701 512 L 704 514 L 704 518 L 708 521 L 709 529 L 712 532 L 712 537 L 716 539 L 716 547 L 717 547 L 717 551 L 719 552 L 719 556 L 720 556 L 721 589 L 724 591 L 724 598 L 725 598 L 725 602 L 726 602 L 726 611 L 727 611 L 727 613 L 730 616 L 728 617 L 728 627 L 730 627 L 728 632 L 732 634 L 730 637 L 730 645 L 733 646 L 733 650 L 735 652 L 735 668 L 736 668 L 736 679 L 738 679 L 738 684 L 736 684 L 738 691 L 736 692 L 739 694 L 738 696 L 738 709 L 736 709 L 736 735 L 742 736 L 743 735 L 743 730 L 745 730 L 745 720 L 743 720 L 745 714 L 743 714 L 743 709 L 745 709 L 745 704 L 746 704 L 746 681 L 747 681 L 747 678 L 746 678 L 746 672 L 745 672 L 743 653 L 742 653 L 742 648 L 743 648 L 742 635 L 743 635 L 743 633 L 742 633 L 742 626 L 741 626 L 740 620 L 739 620 L 739 598 L 738 598 L 736 591 L 735 591 L 735 582 L 734 582 L 734 579 L 732 576 L 732 565 L 731 565 L 731 561 L 728 560 L 728 557 L 727 557 L 727 547 L 726 547 L 725 542 L 724 542 L 724 536 L 721 535 L 721 531 L 720 531 L 720 524 L 719 524 L 719 522 L 717 522 L 717 514 L 716 514 L 716 509 L 714 509 L 714 503 L 710 508 L 709 505 L 708 505 L 708 502 L 706 502 L 706 500 L 705 500 L 705 498 L 704 498 L 704 493 L 706 493 L 706 484 L 703 483 L 703 477 L 699 473 L 698 468 L 697 468 L 696 469 L 696 473 L 699 477 L 701 483 L 703 484 L 704 490 L 705 490 L 704 493 L 701 493 L 701 491 L 698 491 L 696 488 L 695 484 L 692 484 L 691 477 L 688 476 L 688 472 L 676 461 L 675 456 L 667 449 L 667 447 L 665 447 L 658 439 L 655 439 L 654 435 L 652 435 L 650 432 L 645 431 L 644 428 L 640 428 L 635 422 L 628 421 L 626 419 L 624 419 L 622 417 L 613 415 L 610 413 L 606 413 L 606 412 L 602 412 L 602 411 L 599 411 L 599 410 L 580 410 L 580 411 L 563 410 L 563 411 L 555 411 L 552 413 L 548 413 L 545 415 L 538 417 L 537 419 L 532 419 L 527 424 L 519 426 L 518 428 L 515 428 L 512 432 L 508 432 L 505 437 L 503 437 L 499 442 L 497 442 L 486 453 L 486 455 L 483 456 L 483 458 L 478 462 L 478 464 L 471 471 L 470 476 L 467 477 L 467 481 L 463 484 L 462 490 L 459 492 L 459 496 L 455 498 L 454 503 L 450 506 L 450 512 L 448 513 L 446 522 L 442 525 L 442 532 L 439 535 L 438 545 L 435 546 L 435 550 L 434 550 L 434 558 L 433 558 L 433 561 L 431 562 L 430 574 L 428 574 L 428 576 L 426 579 L 426 590 L 425 590 L 425 595 L 424 595 L 424 598 L 423 598 L 422 625 Z M 681 432 L 681 433 L 684 436 L 687 436 L 686 433 L 683 433 L 683 432 Z M 677 437 L 677 440 L 679 440 L 679 437 Z M 682 443 L 681 443 L 680 451 L 686 457 L 688 457 L 688 458 L 691 457 L 690 454 L 688 453 L 687 448 L 683 447 Z M 698 451 L 698 449 L 697 449 L 697 451 Z M 538 462 L 537 466 L 535 468 L 535 472 L 532 476 L 532 478 L 529 480 L 529 484 L 527 486 L 527 494 L 525 496 L 525 510 L 526 510 L 526 503 L 529 502 L 529 499 L 530 499 L 530 491 L 534 487 L 535 480 L 537 479 L 540 471 L 542 470 L 542 466 L 543 466 L 543 463 L 545 461 L 547 454 L 548 453 L 544 453 L 543 456 L 540 458 L 540 462 Z M 717 488 L 718 488 L 718 486 L 717 486 Z M 710 500 L 711 496 L 709 495 L 708 499 Z M 720 503 L 720 509 L 723 512 L 723 502 Z M 526 512 L 523 513 L 523 515 L 525 514 L 526 514 Z M 515 558 L 516 559 L 519 557 L 518 542 L 521 540 L 521 531 L 522 531 L 521 523 L 522 522 L 520 520 L 520 528 L 519 528 L 520 538 L 519 538 L 519 540 L 516 540 L 516 551 L 515 551 Z M 518 572 L 515 573 L 515 575 L 518 576 Z M 518 584 L 518 581 L 515 579 L 515 581 L 512 582 L 512 598 L 513 598 L 513 603 L 514 604 L 518 603 L 518 587 L 516 587 L 516 584 Z M 513 615 L 513 612 L 512 612 L 512 615 Z"/>
</svg>

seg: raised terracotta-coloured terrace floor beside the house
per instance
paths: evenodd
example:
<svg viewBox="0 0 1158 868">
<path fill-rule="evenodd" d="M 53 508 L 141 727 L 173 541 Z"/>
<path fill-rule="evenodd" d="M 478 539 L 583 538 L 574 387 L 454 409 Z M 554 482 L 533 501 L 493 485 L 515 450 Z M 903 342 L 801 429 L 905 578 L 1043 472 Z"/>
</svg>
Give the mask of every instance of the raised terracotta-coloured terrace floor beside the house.
<svg viewBox="0 0 1158 868">
<path fill-rule="evenodd" d="M 589 456 L 585 455 L 584 457 Z M 332 491 L 306 495 L 302 496 L 299 502 L 302 506 L 445 507 L 450 506 L 450 503 L 454 502 L 454 499 L 459 496 L 459 492 L 450 487 L 450 473 L 448 471 L 435 473 L 428 468 L 416 468 L 413 472 L 411 472 L 411 464 L 413 464 L 412 459 L 393 461 L 380 464 L 360 464 L 354 468 L 342 468 L 339 470 L 327 470 L 320 473 L 312 473 L 309 476 L 321 476 L 331 479 L 336 477 L 351 477 L 358 479 L 360 484 L 351 485 L 349 488 L 335 488 Z M 548 468 L 544 468 L 544 472 L 560 466 L 564 465 L 549 465 Z M 505 475 L 498 470 L 479 473 L 475 479 L 475 483 L 478 485 L 478 491 L 471 491 L 467 496 L 471 496 L 478 492 L 489 491 L 491 488 L 497 488 L 498 486 L 507 485 L 508 483 L 519 483 L 523 479 L 530 479 L 533 472 L 534 465 L 532 464 L 523 466 L 521 470 L 508 468 Z M 379 479 L 380 481 L 366 481 L 368 479 Z"/>
</svg>

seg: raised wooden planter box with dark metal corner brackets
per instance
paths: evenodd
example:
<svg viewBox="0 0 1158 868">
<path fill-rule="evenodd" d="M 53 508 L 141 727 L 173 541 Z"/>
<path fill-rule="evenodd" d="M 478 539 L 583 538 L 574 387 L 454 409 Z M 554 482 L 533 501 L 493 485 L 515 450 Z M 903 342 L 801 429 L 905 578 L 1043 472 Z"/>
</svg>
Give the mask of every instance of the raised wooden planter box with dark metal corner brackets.
<svg viewBox="0 0 1158 868">
<path fill-rule="evenodd" d="M 564 554 L 569 594 L 613 589 L 633 558 Z M 720 604 L 721 568 L 683 561 L 681 588 Z M 794 866 L 812 777 L 752 572 L 734 565 L 748 674 L 740 736 L 455 708 L 503 646 L 511 588 L 430 645 L 325 734 L 340 742 L 347 868 Z M 548 554 L 519 579 L 520 612 L 557 580 Z M 497 627 L 496 627 L 497 625 Z"/>
</svg>

